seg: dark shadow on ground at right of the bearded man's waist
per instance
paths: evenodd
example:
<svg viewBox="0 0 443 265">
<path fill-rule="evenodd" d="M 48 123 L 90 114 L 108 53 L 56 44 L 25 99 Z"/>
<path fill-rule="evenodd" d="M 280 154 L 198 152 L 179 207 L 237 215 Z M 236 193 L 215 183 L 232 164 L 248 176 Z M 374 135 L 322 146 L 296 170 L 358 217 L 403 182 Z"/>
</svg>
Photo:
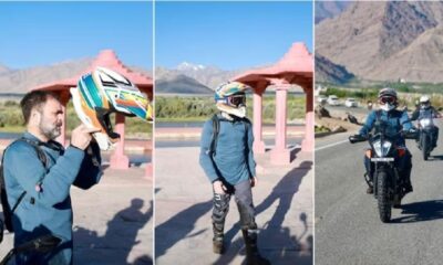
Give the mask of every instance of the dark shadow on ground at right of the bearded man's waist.
<svg viewBox="0 0 443 265">
<path fill-rule="evenodd" d="M 131 250 L 141 244 L 136 241 L 137 233 L 153 216 L 153 201 L 146 212 L 142 212 L 144 201 L 142 199 L 133 199 L 131 205 L 117 212 L 114 218 L 107 222 L 107 229 L 104 235 L 99 236 L 96 231 L 91 231 L 81 226 L 74 227 L 74 242 L 81 242 L 82 247 L 89 248 L 87 253 L 96 255 L 102 259 L 102 251 L 107 251 L 112 256 L 112 264 L 128 264 L 127 258 Z M 148 245 L 143 246 L 150 247 Z M 75 252 L 75 250 L 74 250 Z M 104 253 L 103 255 L 106 255 Z M 107 257 L 110 259 L 110 257 Z M 96 264 L 93 259 L 91 264 Z M 103 263 L 101 263 L 103 264 Z M 107 264 L 110 264 L 107 262 Z M 147 265 L 153 264 L 152 257 L 142 255 L 132 264 Z"/>
</svg>

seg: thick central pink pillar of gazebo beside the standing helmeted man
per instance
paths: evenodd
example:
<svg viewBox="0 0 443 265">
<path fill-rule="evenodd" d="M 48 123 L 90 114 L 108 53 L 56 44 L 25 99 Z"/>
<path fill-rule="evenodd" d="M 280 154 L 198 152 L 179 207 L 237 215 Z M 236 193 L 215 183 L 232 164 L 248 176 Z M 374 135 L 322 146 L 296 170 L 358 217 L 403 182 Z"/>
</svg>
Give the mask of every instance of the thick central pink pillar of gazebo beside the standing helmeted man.
<svg viewBox="0 0 443 265">
<path fill-rule="evenodd" d="M 274 165 L 289 165 L 290 151 L 286 148 L 286 117 L 287 117 L 288 86 L 279 85 L 276 88 L 276 146 L 270 152 Z"/>
</svg>

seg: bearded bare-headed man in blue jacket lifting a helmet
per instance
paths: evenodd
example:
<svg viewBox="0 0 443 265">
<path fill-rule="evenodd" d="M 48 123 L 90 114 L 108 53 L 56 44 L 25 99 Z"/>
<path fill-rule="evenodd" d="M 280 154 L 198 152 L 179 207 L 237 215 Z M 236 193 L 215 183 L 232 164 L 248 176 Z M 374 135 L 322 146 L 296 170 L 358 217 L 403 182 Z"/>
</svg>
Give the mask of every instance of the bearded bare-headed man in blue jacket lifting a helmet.
<svg viewBox="0 0 443 265">
<path fill-rule="evenodd" d="M 10 209 L 20 200 L 12 216 L 14 246 L 45 234 L 62 241 L 47 254 L 18 255 L 17 264 L 72 264 L 70 188 L 74 184 L 89 189 L 102 176 L 100 150 L 91 141 L 91 134 L 97 130 L 83 125 L 76 127 L 72 131 L 70 146 L 64 150 L 54 141 L 61 135 L 63 116 L 58 97 L 34 91 L 28 93 L 20 105 L 27 126 L 24 140 L 11 144 L 3 159 Z M 32 142 L 43 151 L 47 167 Z"/>
</svg>

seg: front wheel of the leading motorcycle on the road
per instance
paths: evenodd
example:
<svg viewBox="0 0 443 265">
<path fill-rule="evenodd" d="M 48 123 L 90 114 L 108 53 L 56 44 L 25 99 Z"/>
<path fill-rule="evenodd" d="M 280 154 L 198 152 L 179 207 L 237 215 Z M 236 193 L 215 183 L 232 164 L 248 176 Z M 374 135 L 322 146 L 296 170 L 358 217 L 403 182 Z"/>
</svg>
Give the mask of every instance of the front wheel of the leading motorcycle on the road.
<svg viewBox="0 0 443 265">
<path fill-rule="evenodd" d="M 389 195 L 388 173 L 384 171 L 380 171 L 377 177 L 377 191 L 380 220 L 383 223 L 388 223 L 391 221 L 391 199 Z"/>
</svg>

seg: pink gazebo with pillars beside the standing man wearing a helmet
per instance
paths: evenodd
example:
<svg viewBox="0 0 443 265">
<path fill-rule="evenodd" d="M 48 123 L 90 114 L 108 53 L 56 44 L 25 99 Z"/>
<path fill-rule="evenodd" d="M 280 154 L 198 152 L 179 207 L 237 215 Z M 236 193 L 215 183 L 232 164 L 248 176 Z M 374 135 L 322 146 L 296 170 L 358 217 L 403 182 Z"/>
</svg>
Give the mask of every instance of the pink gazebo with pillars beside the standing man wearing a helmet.
<svg viewBox="0 0 443 265">
<path fill-rule="evenodd" d="M 306 128 L 302 151 L 313 151 L 313 59 L 303 43 L 293 43 L 285 56 L 269 67 L 247 71 L 234 78 L 254 88 L 254 151 L 265 152 L 262 141 L 262 94 L 267 87 L 276 89 L 276 146 L 270 151 L 275 165 L 290 163 L 287 148 L 287 95 L 291 85 L 306 93 Z"/>
</svg>

